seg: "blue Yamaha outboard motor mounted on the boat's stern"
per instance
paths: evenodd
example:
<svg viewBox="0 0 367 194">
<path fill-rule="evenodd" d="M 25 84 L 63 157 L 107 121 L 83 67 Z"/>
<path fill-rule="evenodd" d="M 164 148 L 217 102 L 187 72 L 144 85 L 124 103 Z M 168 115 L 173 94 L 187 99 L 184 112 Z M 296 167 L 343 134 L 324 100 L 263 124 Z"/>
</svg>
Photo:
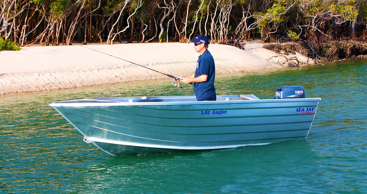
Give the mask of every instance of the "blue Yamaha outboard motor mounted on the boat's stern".
<svg viewBox="0 0 367 194">
<path fill-rule="evenodd" d="M 274 93 L 274 99 L 305 98 L 303 86 L 278 87 Z"/>
</svg>

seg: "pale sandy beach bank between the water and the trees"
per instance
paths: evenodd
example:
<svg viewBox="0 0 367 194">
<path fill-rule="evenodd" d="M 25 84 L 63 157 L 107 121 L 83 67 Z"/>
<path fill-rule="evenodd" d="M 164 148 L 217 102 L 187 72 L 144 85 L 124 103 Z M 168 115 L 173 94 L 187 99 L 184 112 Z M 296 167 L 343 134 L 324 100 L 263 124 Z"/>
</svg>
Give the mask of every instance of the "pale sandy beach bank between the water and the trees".
<svg viewBox="0 0 367 194">
<path fill-rule="evenodd" d="M 199 56 L 193 44 L 183 43 L 83 46 L 174 76 L 192 74 Z M 1 51 L 0 95 L 168 78 L 83 46 L 30 46 L 20 51 Z M 286 67 L 277 63 L 284 57 L 273 57 L 279 54 L 262 48 L 258 41 L 246 42 L 244 47 L 241 50 L 210 44 L 216 74 Z M 298 59 L 307 61 L 304 56 L 298 55 Z"/>
</svg>

